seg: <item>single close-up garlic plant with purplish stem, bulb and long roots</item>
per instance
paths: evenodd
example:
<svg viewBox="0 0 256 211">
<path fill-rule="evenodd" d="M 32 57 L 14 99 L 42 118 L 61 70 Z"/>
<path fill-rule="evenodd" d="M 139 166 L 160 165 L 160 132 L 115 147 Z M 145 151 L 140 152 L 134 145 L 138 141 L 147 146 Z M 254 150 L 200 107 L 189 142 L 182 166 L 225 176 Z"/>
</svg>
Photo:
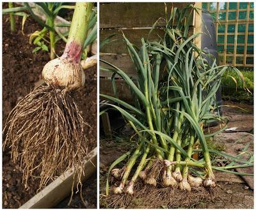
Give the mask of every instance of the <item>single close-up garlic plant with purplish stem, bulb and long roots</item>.
<svg viewBox="0 0 256 211">
<path fill-rule="evenodd" d="M 67 170 L 76 171 L 81 184 L 88 124 L 70 92 L 84 85 L 80 59 L 92 8 L 93 3 L 76 3 L 64 53 L 43 69 L 46 85 L 21 99 L 6 120 L 3 149 L 12 149 L 14 162 L 20 157 L 25 186 L 36 171 L 39 188 Z"/>
</svg>

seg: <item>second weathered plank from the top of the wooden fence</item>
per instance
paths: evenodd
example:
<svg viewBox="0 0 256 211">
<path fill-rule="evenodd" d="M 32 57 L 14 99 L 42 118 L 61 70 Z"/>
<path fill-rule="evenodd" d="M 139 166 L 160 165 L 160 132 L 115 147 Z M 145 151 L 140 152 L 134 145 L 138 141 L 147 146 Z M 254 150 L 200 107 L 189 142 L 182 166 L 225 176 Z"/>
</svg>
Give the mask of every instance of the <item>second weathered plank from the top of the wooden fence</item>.
<svg viewBox="0 0 256 211">
<path fill-rule="evenodd" d="M 152 33 L 148 36 L 150 29 L 124 29 L 122 32 L 125 37 L 134 45 L 138 47 L 141 46 L 141 38 L 149 41 L 159 41 L 160 38 L 163 38 L 164 31 L 161 29 L 154 29 Z M 120 53 L 127 54 L 126 45 L 122 39 L 122 32 L 118 29 L 113 30 L 100 30 L 100 42 L 105 38 L 108 38 L 111 34 L 118 34 L 114 36 L 112 39 L 115 40 L 111 43 L 106 44 L 104 47 L 100 49 L 102 53 Z M 193 27 L 190 27 L 189 34 L 193 34 Z"/>
</svg>

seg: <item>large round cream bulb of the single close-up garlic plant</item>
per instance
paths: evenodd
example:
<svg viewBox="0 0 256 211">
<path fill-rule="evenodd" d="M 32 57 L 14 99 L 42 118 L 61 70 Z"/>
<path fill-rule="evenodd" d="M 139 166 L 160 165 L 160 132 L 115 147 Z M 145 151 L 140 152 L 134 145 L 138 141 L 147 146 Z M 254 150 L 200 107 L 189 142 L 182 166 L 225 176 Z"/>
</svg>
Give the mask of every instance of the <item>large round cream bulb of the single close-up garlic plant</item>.
<svg viewBox="0 0 256 211">
<path fill-rule="evenodd" d="M 80 64 L 68 61 L 62 56 L 45 64 L 42 76 L 47 85 L 65 91 L 79 89 L 85 82 Z"/>
</svg>

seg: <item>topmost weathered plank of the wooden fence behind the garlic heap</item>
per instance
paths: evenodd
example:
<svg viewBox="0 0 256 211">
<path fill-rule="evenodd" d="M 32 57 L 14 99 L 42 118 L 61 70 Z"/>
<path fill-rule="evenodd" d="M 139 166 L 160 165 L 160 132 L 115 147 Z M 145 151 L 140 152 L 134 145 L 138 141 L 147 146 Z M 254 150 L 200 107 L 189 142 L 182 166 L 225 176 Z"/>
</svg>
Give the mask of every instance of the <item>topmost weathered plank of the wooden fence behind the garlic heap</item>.
<svg viewBox="0 0 256 211">
<path fill-rule="evenodd" d="M 184 8 L 191 3 L 166 3 L 168 10 L 172 6 Z M 160 17 L 165 17 L 164 3 L 111 3 L 100 4 L 100 28 L 150 27 Z M 192 22 L 191 22 L 192 24 Z M 164 20 L 159 25 L 165 25 Z"/>
</svg>

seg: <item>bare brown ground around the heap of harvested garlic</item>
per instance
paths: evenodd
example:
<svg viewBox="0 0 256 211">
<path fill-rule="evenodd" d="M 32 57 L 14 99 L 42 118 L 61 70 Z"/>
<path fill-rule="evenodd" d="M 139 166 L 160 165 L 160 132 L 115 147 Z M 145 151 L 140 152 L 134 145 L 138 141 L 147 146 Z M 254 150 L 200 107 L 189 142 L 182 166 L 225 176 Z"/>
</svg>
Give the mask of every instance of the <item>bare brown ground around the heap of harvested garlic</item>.
<svg viewBox="0 0 256 211">
<path fill-rule="evenodd" d="M 230 101 L 224 101 L 224 105 L 229 105 L 223 107 L 223 115 L 229 119 L 227 128 L 237 127 L 237 132 L 220 133 L 214 136 L 214 144 L 221 145 L 223 150 L 228 154 L 237 156 L 250 143 L 247 151 L 253 154 L 253 106 Z M 214 131 L 214 128 L 212 129 Z M 119 136 L 121 136 L 120 134 L 119 131 Z M 131 149 L 132 145 L 134 143 L 125 139 L 125 137 L 112 140 L 100 138 L 100 194 L 103 197 L 109 166 L 115 159 Z M 248 159 L 248 157 L 246 158 Z M 124 164 L 125 162 L 123 161 L 116 168 L 122 168 Z M 236 171 L 241 171 L 241 169 L 236 169 Z M 243 168 L 243 171 L 253 173 L 253 167 Z M 253 177 L 239 177 L 224 172 L 218 175 L 217 172 L 220 173 L 220 171 L 216 171 L 215 173 L 219 191 L 214 201 L 203 200 L 189 208 L 253 208 Z M 142 205 L 143 202 L 140 201 L 145 202 L 143 198 L 136 198 L 126 208 L 145 208 Z M 150 206 L 152 208 L 166 208 L 164 204 L 161 207 Z M 108 207 L 106 201 L 100 200 L 100 207 Z"/>
</svg>

